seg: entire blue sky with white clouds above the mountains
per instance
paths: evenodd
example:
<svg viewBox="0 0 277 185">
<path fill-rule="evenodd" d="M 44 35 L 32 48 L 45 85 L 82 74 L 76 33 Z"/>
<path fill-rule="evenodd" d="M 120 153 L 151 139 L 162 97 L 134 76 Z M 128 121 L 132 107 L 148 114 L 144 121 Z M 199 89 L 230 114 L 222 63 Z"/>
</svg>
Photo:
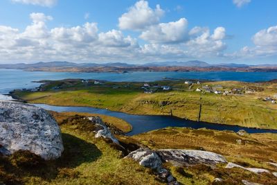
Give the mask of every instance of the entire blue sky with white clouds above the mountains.
<svg viewBox="0 0 277 185">
<path fill-rule="evenodd" d="M 1 0 L 0 63 L 277 64 L 276 0 Z"/>
</svg>

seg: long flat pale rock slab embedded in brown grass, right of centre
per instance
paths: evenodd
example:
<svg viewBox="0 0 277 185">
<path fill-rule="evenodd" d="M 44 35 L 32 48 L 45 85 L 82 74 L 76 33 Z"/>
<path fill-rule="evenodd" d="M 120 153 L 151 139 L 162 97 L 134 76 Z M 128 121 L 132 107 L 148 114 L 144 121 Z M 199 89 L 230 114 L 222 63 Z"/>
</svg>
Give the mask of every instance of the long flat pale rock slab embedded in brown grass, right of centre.
<svg viewBox="0 0 277 185">
<path fill-rule="evenodd" d="M 208 164 L 214 165 L 218 163 L 226 163 L 225 157 L 214 152 L 206 152 L 202 150 L 178 150 L 178 149 L 163 149 L 157 150 L 157 154 L 163 161 L 171 162 L 172 164 Z"/>
</svg>

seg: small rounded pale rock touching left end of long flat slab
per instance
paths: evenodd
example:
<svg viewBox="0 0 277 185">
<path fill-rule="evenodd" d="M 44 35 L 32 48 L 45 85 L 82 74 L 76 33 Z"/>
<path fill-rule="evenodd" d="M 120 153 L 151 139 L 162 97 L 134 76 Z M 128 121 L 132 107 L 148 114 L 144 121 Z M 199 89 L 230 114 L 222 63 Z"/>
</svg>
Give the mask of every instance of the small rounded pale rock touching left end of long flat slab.
<svg viewBox="0 0 277 185">
<path fill-rule="evenodd" d="M 139 161 L 141 166 L 145 166 L 147 168 L 155 170 L 161 170 L 162 168 L 162 161 L 159 158 L 159 155 L 149 148 L 139 148 L 138 150 L 129 153 L 126 157 Z"/>
</svg>

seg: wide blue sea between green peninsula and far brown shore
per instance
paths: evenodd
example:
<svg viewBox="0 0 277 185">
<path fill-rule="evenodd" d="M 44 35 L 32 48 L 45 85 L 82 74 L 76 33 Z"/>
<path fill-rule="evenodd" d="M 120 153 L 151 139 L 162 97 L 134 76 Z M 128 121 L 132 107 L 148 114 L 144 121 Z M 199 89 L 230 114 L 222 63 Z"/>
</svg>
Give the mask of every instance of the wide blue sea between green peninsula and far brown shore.
<svg viewBox="0 0 277 185">
<path fill-rule="evenodd" d="M 8 94 L 13 89 L 33 88 L 39 80 L 62 80 L 65 78 L 82 78 L 108 80 L 115 82 L 139 81 L 150 82 L 163 78 L 199 79 L 199 80 L 238 80 L 258 82 L 277 79 L 277 72 L 132 72 L 132 73 L 67 73 L 22 71 L 17 69 L 0 69 L 0 94 Z"/>
</svg>

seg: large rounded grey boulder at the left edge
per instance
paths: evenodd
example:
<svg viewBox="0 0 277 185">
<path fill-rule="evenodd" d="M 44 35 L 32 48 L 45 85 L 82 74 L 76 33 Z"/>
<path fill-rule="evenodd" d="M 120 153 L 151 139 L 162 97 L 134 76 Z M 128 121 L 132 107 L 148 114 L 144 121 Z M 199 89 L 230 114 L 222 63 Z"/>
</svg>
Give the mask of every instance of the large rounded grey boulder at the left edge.
<svg viewBox="0 0 277 185">
<path fill-rule="evenodd" d="M 60 127 L 46 110 L 0 100 L 0 152 L 28 150 L 43 159 L 57 159 L 64 150 Z"/>
</svg>

